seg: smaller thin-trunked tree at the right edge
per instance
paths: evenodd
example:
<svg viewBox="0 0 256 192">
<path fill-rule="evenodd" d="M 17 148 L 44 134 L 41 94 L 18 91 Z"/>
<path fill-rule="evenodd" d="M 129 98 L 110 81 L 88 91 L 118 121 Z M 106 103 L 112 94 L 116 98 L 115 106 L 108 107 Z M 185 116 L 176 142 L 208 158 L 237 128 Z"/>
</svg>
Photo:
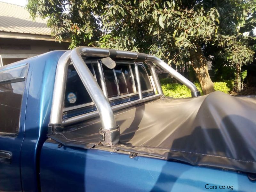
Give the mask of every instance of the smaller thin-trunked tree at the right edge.
<svg viewBox="0 0 256 192">
<path fill-rule="evenodd" d="M 221 46 L 218 47 L 218 50 L 212 52 L 212 47 L 209 46 L 207 51 L 208 54 L 214 55 L 212 64 L 215 67 L 215 71 L 221 69 L 221 76 L 230 74 L 233 71 L 235 75 L 234 91 L 240 92 L 243 88 L 241 78 L 245 78 L 244 74 L 241 74 L 241 68 L 243 65 L 252 62 L 253 50 L 255 49 L 253 45 L 256 44 L 256 38 L 253 34 L 253 29 L 256 27 L 256 1 L 236 3 L 235 8 L 240 10 L 240 13 L 233 14 L 235 19 L 232 22 L 224 23 L 224 26 L 233 26 L 233 29 L 236 30 L 230 30 L 226 35 L 221 36 L 224 40 L 220 41 Z"/>
</svg>

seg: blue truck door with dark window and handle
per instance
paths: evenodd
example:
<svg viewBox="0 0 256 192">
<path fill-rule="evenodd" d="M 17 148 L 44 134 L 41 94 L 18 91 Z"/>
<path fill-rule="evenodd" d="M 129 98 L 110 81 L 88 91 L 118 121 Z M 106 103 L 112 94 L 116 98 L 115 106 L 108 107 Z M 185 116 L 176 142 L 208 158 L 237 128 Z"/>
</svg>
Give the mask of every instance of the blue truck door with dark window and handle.
<svg viewBox="0 0 256 192">
<path fill-rule="evenodd" d="M 22 191 L 20 148 L 24 138 L 27 64 L 0 68 L 0 191 Z"/>
</svg>

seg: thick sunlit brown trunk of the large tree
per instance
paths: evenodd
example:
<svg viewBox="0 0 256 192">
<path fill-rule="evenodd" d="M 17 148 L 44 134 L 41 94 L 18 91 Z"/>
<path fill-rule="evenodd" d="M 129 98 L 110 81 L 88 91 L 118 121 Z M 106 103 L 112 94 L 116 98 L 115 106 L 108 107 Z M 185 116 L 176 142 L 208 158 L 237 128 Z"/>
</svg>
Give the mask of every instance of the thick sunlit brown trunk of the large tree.
<svg viewBox="0 0 256 192">
<path fill-rule="evenodd" d="M 190 50 L 190 61 L 196 74 L 196 78 L 201 84 L 205 94 L 214 92 L 212 80 L 210 78 L 207 62 L 200 47 L 196 51 Z"/>
</svg>

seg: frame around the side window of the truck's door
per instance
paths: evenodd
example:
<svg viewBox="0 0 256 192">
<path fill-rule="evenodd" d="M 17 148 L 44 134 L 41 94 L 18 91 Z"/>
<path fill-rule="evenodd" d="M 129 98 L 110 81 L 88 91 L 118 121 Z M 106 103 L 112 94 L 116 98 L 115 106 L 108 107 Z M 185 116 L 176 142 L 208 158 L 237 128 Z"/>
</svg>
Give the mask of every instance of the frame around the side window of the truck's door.
<svg viewBox="0 0 256 192">
<path fill-rule="evenodd" d="M 26 86 L 26 80 L 27 80 L 27 77 L 28 77 L 28 66 L 29 66 L 29 64 L 28 63 L 23 63 L 21 65 L 17 65 L 17 66 L 14 66 L 14 67 L 4 68 L 3 70 L 1 70 L 1 68 L 0 68 L 0 75 L 1 75 L 1 72 L 6 72 L 8 70 L 15 70 L 15 68 L 22 67 L 22 66 L 25 66 L 25 68 L 26 68 L 24 76 L 17 76 L 17 77 L 13 77 L 13 78 L 7 78 L 7 79 L 3 79 L 3 80 L 0 81 L 0 84 L 11 84 L 11 83 L 24 82 L 23 90 L 22 90 L 22 96 L 21 96 L 21 102 L 20 102 L 20 114 L 19 114 L 19 121 L 18 121 L 18 130 L 17 130 L 16 133 L 1 132 L 1 130 L 0 130 L 0 137 L 3 136 L 3 137 L 15 138 L 19 135 L 21 109 L 22 109 L 22 102 L 23 102 L 24 91 L 25 91 L 25 86 Z"/>
</svg>

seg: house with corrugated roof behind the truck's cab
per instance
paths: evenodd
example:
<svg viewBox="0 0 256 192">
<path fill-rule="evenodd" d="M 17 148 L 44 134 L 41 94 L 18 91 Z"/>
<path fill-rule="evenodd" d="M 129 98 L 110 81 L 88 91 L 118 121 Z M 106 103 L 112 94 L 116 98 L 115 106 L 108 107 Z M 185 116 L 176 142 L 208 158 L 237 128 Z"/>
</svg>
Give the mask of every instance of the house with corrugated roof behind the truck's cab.
<svg viewBox="0 0 256 192">
<path fill-rule="evenodd" d="M 67 50 L 69 41 L 51 37 L 46 19 L 30 19 L 25 7 L 0 2 L 0 66 L 52 50 Z"/>
</svg>

